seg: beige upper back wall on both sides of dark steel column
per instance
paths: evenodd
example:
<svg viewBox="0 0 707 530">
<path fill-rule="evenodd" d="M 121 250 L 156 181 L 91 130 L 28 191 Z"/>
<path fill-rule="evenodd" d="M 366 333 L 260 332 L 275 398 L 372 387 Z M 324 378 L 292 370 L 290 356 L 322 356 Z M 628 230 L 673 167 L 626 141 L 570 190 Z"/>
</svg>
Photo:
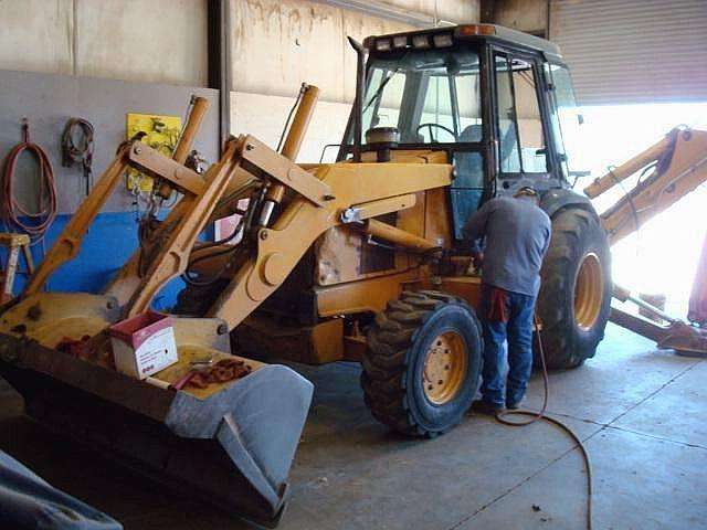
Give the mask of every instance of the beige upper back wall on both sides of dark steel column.
<svg viewBox="0 0 707 530">
<path fill-rule="evenodd" d="M 346 40 L 407 31 L 372 6 L 430 20 L 475 22 L 479 0 L 231 0 L 232 128 L 275 145 L 302 82 L 321 103 L 300 161 L 340 141 L 355 92 Z M 363 7 L 363 8 L 361 8 Z M 0 70 L 205 86 L 205 0 L 0 1 Z"/>
</svg>

